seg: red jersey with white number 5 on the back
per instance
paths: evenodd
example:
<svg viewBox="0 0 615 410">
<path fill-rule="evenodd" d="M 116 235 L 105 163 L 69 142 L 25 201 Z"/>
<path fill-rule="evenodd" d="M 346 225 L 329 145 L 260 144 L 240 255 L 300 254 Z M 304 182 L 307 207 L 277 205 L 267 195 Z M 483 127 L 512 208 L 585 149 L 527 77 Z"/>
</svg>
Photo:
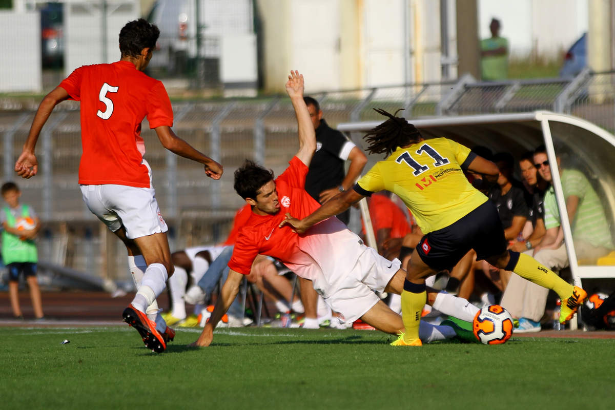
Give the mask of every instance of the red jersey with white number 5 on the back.
<svg viewBox="0 0 615 410">
<path fill-rule="evenodd" d="M 162 82 L 129 61 L 77 68 L 60 83 L 81 101 L 79 183 L 151 187 L 143 160 L 141 122 L 149 128 L 173 125 L 173 110 Z"/>
</svg>

